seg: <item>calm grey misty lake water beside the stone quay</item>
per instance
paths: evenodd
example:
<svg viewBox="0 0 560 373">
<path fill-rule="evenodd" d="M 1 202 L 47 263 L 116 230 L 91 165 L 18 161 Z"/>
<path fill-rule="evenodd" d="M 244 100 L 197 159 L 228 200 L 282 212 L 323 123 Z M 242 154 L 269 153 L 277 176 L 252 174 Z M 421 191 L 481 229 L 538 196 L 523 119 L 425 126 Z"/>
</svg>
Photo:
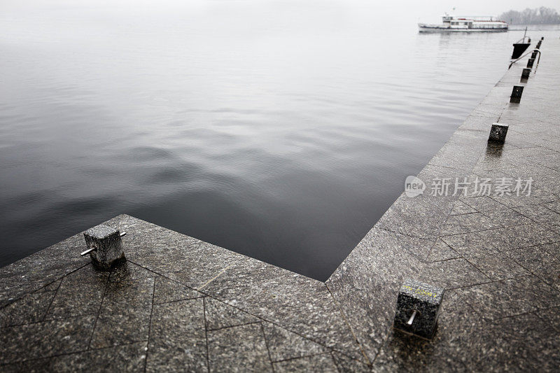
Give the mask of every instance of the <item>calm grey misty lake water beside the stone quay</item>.
<svg viewBox="0 0 560 373">
<path fill-rule="evenodd" d="M 0 10 L 0 266 L 128 213 L 324 280 L 522 36 L 347 2 Z"/>
</svg>

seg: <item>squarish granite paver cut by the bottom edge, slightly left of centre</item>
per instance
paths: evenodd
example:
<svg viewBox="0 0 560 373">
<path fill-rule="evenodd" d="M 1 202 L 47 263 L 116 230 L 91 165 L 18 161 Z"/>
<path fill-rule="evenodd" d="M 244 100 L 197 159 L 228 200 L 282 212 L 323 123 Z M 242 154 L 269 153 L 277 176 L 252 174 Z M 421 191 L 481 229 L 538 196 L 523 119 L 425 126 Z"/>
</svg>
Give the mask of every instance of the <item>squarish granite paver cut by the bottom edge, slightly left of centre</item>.
<svg viewBox="0 0 560 373">
<path fill-rule="evenodd" d="M 272 372 L 260 323 L 208 332 L 210 372 Z"/>
</svg>

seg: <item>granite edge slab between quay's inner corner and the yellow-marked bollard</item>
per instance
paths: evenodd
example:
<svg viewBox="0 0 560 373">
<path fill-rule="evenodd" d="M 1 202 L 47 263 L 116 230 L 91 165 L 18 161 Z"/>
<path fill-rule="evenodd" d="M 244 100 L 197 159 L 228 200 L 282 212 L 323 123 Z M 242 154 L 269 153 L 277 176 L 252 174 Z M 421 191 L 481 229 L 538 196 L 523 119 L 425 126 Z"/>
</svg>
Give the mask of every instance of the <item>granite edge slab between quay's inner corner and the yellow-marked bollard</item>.
<svg viewBox="0 0 560 373">
<path fill-rule="evenodd" d="M 432 245 L 376 227 L 328 279 L 327 286 L 369 361 L 390 328 L 402 281 L 419 272 L 423 262 L 417 254 L 429 253 Z"/>
</svg>

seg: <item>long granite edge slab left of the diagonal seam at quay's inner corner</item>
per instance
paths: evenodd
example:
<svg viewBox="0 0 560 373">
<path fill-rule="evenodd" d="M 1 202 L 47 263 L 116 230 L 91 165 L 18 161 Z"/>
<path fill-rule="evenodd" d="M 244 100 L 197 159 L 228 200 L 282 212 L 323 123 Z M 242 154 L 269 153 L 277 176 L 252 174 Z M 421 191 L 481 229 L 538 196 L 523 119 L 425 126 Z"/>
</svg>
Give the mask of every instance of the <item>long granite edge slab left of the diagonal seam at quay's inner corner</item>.
<svg viewBox="0 0 560 373">
<path fill-rule="evenodd" d="M 342 313 L 319 281 L 248 260 L 228 269 L 203 293 L 332 349 L 361 356 Z"/>
</svg>

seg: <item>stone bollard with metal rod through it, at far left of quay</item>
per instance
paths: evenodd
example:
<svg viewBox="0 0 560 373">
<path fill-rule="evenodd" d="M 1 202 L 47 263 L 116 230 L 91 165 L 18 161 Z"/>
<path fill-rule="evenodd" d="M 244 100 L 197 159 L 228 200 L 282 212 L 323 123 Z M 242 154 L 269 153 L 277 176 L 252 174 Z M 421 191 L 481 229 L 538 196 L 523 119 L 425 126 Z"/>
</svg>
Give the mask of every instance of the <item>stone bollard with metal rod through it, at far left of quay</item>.
<svg viewBox="0 0 560 373">
<path fill-rule="evenodd" d="M 125 262 L 123 234 L 107 225 L 96 225 L 83 233 L 87 250 L 80 255 L 90 254 L 93 265 L 99 269 L 111 269 Z"/>
</svg>

